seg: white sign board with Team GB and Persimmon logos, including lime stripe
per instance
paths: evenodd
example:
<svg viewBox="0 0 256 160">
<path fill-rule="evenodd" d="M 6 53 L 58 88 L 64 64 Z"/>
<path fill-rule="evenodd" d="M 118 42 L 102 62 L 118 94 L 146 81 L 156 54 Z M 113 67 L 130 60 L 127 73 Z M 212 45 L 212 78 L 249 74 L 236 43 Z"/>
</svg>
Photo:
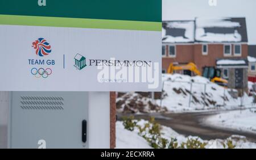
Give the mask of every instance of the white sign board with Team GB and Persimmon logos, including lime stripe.
<svg viewBox="0 0 256 160">
<path fill-rule="evenodd" d="M 161 25 L 0 12 L 0 90 L 160 91 Z"/>
</svg>

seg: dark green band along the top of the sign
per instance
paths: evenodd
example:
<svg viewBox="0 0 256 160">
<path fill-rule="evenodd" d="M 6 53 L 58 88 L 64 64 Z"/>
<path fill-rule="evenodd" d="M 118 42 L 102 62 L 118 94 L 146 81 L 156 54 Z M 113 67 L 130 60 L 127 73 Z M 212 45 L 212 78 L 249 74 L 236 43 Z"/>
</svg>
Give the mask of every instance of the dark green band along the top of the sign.
<svg viewBox="0 0 256 160">
<path fill-rule="evenodd" d="M 0 0 L 0 14 L 162 22 L 162 0 Z"/>
</svg>

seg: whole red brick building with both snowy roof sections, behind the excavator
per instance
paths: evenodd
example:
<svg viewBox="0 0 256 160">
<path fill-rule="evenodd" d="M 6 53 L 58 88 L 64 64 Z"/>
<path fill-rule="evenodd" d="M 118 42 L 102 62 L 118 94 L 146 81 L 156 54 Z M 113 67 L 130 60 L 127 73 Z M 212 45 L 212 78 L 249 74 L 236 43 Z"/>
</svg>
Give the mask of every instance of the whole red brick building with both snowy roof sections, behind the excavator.
<svg viewBox="0 0 256 160">
<path fill-rule="evenodd" d="M 221 68 L 222 77 L 226 79 L 233 78 L 229 74 L 230 68 L 243 68 L 243 72 L 247 72 L 248 40 L 245 18 L 163 21 L 162 30 L 163 73 L 166 73 L 170 63 L 189 62 L 195 63 L 201 72 L 204 66 Z M 245 60 L 245 64 L 237 66 L 234 62 L 217 65 L 217 61 L 223 59 Z M 245 77 L 243 79 L 247 79 Z M 234 85 L 230 84 L 232 86 Z"/>
</svg>

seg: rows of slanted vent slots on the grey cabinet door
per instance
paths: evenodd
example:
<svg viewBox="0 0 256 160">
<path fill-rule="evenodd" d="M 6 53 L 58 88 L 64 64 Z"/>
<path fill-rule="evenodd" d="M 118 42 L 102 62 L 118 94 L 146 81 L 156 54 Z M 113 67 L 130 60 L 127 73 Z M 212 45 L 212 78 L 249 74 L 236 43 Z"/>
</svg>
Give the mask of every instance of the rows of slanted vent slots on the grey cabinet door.
<svg viewBox="0 0 256 160">
<path fill-rule="evenodd" d="M 61 96 L 20 96 L 22 110 L 64 110 Z"/>
</svg>

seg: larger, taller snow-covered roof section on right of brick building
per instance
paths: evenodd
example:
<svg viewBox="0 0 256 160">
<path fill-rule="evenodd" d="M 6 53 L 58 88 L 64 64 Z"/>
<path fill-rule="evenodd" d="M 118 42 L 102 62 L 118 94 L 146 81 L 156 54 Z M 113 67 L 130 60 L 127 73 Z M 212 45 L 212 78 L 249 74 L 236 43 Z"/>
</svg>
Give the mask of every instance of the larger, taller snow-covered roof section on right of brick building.
<svg viewBox="0 0 256 160">
<path fill-rule="evenodd" d="M 195 40 L 200 42 L 247 42 L 245 18 L 196 18 Z"/>
</svg>

